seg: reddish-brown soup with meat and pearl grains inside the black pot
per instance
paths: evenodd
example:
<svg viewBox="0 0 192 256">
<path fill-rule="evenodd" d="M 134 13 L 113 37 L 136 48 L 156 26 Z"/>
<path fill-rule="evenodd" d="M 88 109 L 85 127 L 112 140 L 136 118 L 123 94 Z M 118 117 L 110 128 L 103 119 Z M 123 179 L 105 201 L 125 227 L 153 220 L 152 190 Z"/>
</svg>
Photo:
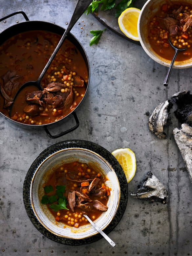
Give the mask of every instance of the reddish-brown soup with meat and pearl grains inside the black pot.
<svg viewBox="0 0 192 256">
<path fill-rule="evenodd" d="M 0 112 L 27 125 L 47 125 L 70 114 L 87 89 L 88 70 L 75 45 L 65 39 L 41 81 L 14 95 L 22 84 L 35 81 L 52 55 L 61 36 L 34 30 L 19 33 L 0 46 Z"/>
</svg>

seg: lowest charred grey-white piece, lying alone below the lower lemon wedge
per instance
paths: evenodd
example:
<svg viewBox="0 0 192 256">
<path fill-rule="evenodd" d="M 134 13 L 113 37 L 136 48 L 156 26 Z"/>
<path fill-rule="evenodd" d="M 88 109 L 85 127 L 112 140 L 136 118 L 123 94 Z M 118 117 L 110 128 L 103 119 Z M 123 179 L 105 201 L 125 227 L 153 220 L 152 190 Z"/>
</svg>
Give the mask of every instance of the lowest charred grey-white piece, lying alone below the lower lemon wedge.
<svg viewBox="0 0 192 256">
<path fill-rule="evenodd" d="M 137 192 L 132 192 L 131 196 L 147 200 L 167 203 L 168 191 L 160 180 L 151 172 L 147 172 L 145 178 L 138 185 Z"/>
</svg>

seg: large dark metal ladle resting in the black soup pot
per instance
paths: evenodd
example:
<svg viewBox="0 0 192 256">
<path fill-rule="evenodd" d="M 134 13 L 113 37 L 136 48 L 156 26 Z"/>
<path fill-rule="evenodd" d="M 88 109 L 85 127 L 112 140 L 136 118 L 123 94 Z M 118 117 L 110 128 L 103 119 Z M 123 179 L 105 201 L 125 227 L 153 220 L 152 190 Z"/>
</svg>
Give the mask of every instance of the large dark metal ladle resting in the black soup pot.
<svg viewBox="0 0 192 256">
<path fill-rule="evenodd" d="M 65 41 L 66 36 L 69 34 L 69 32 L 71 31 L 71 29 L 73 28 L 73 26 L 75 25 L 75 23 L 77 22 L 77 20 L 81 17 L 81 15 L 86 11 L 87 7 L 91 4 L 93 0 L 78 0 L 75 10 L 72 14 L 71 20 L 69 22 L 69 25 L 67 27 L 67 29 L 65 30 L 64 34 L 62 35 L 59 43 L 57 44 L 52 56 L 50 57 L 50 59 L 48 60 L 47 64 L 45 65 L 43 71 L 41 72 L 39 78 L 36 81 L 29 81 L 24 83 L 16 92 L 14 98 L 13 98 L 13 103 L 16 99 L 16 97 L 18 96 L 18 94 L 20 93 L 20 91 L 27 87 L 27 86 L 36 86 L 39 90 L 43 90 L 40 82 L 42 80 L 42 78 L 44 77 L 46 71 L 48 70 L 49 66 L 51 65 L 53 59 L 55 58 L 57 52 L 59 51 L 60 47 L 62 46 L 63 42 Z M 13 105 L 12 103 L 12 105 Z M 11 116 L 11 108 L 12 105 L 10 106 L 10 116 Z"/>
</svg>

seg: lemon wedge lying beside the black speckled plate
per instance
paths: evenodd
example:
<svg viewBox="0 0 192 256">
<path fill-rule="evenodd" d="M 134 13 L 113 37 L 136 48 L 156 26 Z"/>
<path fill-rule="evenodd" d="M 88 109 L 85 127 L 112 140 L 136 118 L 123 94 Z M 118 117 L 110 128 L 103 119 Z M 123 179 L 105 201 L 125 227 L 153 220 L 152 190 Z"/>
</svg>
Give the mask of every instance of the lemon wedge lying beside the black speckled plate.
<svg viewBox="0 0 192 256">
<path fill-rule="evenodd" d="M 112 152 L 112 155 L 115 156 L 121 165 L 125 173 L 127 183 L 129 183 L 136 172 L 136 158 L 134 152 L 130 149 L 117 149 Z"/>
</svg>

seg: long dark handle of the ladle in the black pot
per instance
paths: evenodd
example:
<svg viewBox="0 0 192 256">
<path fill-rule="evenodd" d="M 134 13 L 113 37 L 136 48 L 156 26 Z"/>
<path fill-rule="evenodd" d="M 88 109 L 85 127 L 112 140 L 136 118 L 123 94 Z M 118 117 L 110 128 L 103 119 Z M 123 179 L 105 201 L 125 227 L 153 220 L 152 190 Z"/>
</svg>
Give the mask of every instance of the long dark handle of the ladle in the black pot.
<svg viewBox="0 0 192 256">
<path fill-rule="evenodd" d="M 71 29 L 73 28 L 73 26 L 75 25 L 75 23 L 77 22 L 77 20 L 81 17 L 81 15 L 86 11 L 87 7 L 91 4 L 93 0 L 78 0 L 74 13 L 71 17 L 71 20 L 69 22 L 69 25 L 67 27 L 67 29 L 65 30 L 65 33 L 62 35 L 59 43 L 57 44 L 52 56 L 50 57 L 50 59 L 48 60 L 47 64 L 45 65 L 43 71 L 41 72 L 39 78 L 37 79 L 37 82 L 40 84 L 42 78 L 44 77 L 46 71 L 48 70 L 49 66 L 51 65 L 53 59 L 55 58 L 57 52 L 59 51 L 60 47 L 62 46 L 66 36 L 68 35 L 68 33 L 71 31 Z"/>
</svg>

